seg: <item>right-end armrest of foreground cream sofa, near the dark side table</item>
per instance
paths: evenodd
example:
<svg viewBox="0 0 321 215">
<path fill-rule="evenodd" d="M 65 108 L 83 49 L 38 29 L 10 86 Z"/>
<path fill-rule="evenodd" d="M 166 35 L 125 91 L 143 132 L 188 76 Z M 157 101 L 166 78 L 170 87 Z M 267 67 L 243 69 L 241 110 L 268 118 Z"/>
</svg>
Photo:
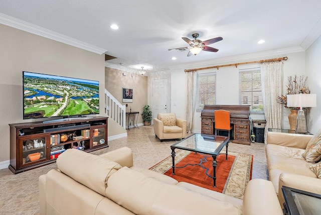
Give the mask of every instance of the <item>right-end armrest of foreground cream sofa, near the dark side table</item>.
<svg viewBox="0 0 321 215">
<path fill-rule="evenodd" d="M 258 212 L 260 211 L 260 212 Z M 252 179 L 245 188 L 243 214 L 283 214 L 271 181 Z"/>
</svg>

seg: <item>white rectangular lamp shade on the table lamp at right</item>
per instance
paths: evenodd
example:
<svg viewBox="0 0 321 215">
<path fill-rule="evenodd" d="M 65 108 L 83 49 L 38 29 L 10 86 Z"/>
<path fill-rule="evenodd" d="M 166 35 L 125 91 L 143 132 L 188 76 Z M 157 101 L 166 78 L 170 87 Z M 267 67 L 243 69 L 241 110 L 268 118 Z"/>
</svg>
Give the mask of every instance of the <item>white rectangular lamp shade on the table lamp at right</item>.
<svg viewBox="0 0 321 215">
<path fill-rule="evenodd" d="M 315 107 L 316 94 L 289 94 L 286 95 L 288 107 Z"/>
</svg>

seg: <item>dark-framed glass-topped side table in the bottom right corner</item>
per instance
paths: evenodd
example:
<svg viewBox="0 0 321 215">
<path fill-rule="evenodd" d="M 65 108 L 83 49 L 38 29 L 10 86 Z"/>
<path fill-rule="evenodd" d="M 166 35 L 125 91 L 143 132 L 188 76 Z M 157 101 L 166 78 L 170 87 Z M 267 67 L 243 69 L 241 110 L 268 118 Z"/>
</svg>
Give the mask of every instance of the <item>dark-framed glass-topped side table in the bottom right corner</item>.
<svg viewBox="0 0 321 215">
<path fill-rule="evenodd" d="M 287 186 L 282 186 L 281 189 L 285 200 L 284 214 L 321 214 L 321 195 Z"/>
</svg>

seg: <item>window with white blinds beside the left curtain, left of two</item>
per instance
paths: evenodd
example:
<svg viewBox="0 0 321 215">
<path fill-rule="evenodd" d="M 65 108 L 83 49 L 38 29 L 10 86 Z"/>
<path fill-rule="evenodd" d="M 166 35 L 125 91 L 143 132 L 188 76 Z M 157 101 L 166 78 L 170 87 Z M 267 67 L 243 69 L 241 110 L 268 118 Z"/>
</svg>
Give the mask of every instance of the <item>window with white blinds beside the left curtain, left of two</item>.
<svg viewBox="0 0 321 215">
<path fill-rule="evenodd" d="M 197 74 L 196 111 L 201 112 L 205 104 L 216 102 L 216 72 Z"/>
</svg>

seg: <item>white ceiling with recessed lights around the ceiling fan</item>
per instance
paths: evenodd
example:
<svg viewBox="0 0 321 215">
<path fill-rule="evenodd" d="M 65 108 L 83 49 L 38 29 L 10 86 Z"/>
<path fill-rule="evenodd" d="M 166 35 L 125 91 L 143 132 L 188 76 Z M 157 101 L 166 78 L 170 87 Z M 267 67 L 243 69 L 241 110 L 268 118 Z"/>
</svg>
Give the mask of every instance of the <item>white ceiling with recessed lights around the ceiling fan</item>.
<svg viewBox="0 0 321 215">
<path fill-rule="evenodd" d="M 305 50 L 321 35 L 320 0 L 2 0 L 0 13 L 117 57 L 108 63 L 151 65 L 151 71 L 256 52 Z M 190 57 L 188 50 L 168 51 L 188 46 L 181 38 L 193 39 L 196 32 L 202 41 L 223 37 L 209 45 L 219 51 Z M 266 42 L 257 44 L 261 39 Z"/>
</svg>

